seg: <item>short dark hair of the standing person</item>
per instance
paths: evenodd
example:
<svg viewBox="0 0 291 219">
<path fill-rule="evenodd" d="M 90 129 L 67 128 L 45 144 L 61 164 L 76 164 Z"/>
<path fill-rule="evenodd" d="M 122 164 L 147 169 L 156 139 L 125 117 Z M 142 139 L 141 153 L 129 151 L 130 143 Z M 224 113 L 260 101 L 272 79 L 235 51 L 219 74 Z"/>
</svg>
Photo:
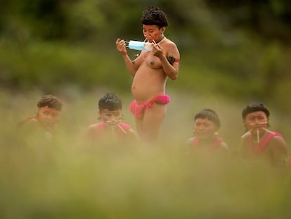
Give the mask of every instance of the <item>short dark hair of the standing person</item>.
<svg viewBox="0 0 291 219">
<path fill-rule="evenodd" d="M 141 23 L 143 25 L 157 25 L 158 27 L 167 27 L 168 20 L 167 16 L 160 8 L 155 6 L 149 6 L 145 11 L 143 11 L 143 17 L 141 18 Z"/>
</svg>

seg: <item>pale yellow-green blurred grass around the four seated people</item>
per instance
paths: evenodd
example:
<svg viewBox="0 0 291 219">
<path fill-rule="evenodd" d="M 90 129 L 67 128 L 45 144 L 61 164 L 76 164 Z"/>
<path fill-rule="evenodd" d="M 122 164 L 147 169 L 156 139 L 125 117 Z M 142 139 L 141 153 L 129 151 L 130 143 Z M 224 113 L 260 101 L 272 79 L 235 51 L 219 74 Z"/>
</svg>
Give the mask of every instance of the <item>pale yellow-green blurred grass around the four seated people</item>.
<svg viewBox="0 0 291 219">
<path fill-rule="evenodd" d="M 38 148 L 18 146 L 15 124 L 37 111 L 41 92 L 0 92 L 0 218 L 290 218 L 290 170 L 183 151 L 202 108 L 219 113 L 220 134 L 235 151 L 246 103 L 169 91 L 157 144 L 86 148 L 82 133 L 96 123 L 103 92 L 61 94 L 61 135 L 53 146 Z M 119 96 L 124 120 L 134 127 L 131 96 Z M 273 129 L 290 133 L 282 128 L 285 117 L 272 110 Z"/>
</svg>

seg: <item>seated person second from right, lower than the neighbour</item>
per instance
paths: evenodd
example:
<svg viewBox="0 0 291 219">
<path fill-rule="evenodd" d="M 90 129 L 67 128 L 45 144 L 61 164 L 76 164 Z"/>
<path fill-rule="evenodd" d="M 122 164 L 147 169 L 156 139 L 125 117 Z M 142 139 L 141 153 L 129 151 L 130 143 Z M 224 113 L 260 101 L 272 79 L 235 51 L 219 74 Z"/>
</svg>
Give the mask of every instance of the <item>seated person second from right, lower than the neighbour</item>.
<svg viewBox="0 0 291 219">
<path fill-rule="evenodd" d="M 217 134 L 219 128 L 220 120 L 215 111 L 209 108 L 200 111 L 194 118 L 194 137 L 187 139 L 187 146 L 196 151 L 221 151 L 227 155 L 228 146 Z"/>
</svg>

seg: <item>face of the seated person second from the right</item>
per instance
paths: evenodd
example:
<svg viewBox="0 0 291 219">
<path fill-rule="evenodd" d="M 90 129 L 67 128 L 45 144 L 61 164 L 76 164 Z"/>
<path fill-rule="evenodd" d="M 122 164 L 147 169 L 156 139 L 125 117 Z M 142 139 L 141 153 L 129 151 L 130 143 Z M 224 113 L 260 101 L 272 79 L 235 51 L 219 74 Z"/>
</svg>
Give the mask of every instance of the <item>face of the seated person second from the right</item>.
<svg viewBox="0 0 291 219">
<path fill-rule="evenodd" d="M 198 139 L 209 139 L 217 130 L 216 125 L 207 118 L 197 118 L 195 120 L 194 132 Z"/>
</svg>

